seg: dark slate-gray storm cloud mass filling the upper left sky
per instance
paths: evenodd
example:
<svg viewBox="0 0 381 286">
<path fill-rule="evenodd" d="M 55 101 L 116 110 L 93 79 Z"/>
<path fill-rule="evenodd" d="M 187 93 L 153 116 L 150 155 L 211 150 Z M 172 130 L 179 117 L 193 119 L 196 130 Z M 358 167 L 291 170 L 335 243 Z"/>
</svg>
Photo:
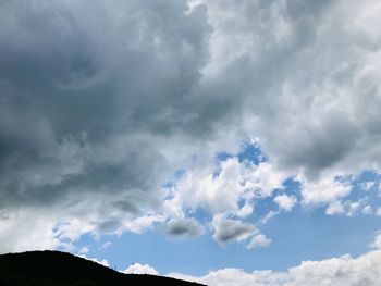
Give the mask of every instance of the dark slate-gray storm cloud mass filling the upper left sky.
<svg viewBox="0 0 381 286">
<path fill-rule="evenodd" d="M 1 3 L 2 206 L 157 187 L 165 159 L 145 134 L 199 128 L 187 97 L 211 28 L 205 7 L 187 11 L 185 1 Z M 116 206 L 138 208 L 128 203 Z"/>
</svg>

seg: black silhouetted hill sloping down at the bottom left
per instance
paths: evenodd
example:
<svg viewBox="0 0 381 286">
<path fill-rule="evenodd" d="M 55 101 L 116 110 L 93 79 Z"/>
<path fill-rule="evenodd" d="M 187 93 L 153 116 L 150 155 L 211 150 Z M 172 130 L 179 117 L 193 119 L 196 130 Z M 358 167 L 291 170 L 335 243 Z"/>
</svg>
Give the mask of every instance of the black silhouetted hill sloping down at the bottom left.
<svg viewBox="0 0 381 286">
<path fill-rule="evenodd" d="M 0 256 L 0 286 L 200 286 L 156 275 L 123 274 L 60 251 Z"/>
</svg>

